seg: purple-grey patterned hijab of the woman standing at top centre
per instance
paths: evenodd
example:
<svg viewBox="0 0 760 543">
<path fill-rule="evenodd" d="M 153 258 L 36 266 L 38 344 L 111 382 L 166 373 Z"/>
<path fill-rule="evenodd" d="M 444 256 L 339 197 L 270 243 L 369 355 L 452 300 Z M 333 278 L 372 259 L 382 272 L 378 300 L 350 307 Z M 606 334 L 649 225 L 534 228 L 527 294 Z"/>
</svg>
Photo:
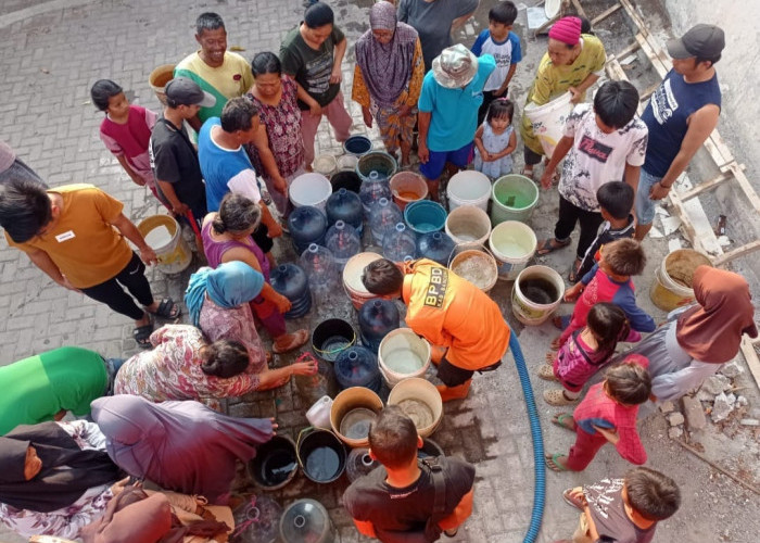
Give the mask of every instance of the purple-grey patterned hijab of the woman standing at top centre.
<svg viewBox="0 0 760 543">
<path fill-rule="evenodd" d="M 398 23 L 391 2 L 378 2 L 369 12 L 369 26 L 356 41 L 356 63 L 364 81 L 378 105 L 390 108 L 411 79 L 411 61 L 417 45 L 417 30 Z M 372 30 L 394 30 L 390 43 L 380 43 Z"/>
</svg>

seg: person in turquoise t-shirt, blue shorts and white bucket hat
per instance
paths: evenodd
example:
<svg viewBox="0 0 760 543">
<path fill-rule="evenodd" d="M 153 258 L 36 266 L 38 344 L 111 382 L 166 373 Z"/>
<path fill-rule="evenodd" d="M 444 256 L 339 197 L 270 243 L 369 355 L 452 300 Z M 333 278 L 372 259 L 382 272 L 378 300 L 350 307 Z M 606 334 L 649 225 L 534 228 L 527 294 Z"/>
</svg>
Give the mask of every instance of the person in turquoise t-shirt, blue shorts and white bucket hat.
<svg viewBox="0 0 760 543">
<path fill-rule="evenodd" d="M 461 43 L 452 46 L 433 60 L 419 97 L 419 168 L 428 192 L 438 201 L 439 179 L 446 163 L 465 168 L 472 157 L 478 128 L 478 110 L 483 87 L 496 61 L 490 54 L 478 59 Z"/>
</svg>

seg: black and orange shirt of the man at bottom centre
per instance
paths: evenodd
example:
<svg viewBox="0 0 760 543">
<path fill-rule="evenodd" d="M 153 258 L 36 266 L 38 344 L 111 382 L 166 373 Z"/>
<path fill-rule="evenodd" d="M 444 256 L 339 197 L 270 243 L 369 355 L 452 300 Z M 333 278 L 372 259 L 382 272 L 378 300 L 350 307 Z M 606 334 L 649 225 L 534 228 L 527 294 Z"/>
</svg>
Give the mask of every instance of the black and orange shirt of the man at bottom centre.
<svg viewBox="0 0 760 543">
<path fill-rule="evenodd" d="M 446 481 L 446 509 L 451 515 L 472 489 L 474 466 L 457 458 L 439 457 Z M 376 529 L 389 531 L 425 530 L 435 502 L 435 483 L 426 466 L 417 481 L 404 489 L 385 482 L 388 471 L 380 466 L 354 481 L 343 494 L 343 506 L 356 520 L 370 521 Z M 380 535 L 380 534 L 378 534 Z M 382 541 L 382 538 L 380 538 Z"/>
</svg>

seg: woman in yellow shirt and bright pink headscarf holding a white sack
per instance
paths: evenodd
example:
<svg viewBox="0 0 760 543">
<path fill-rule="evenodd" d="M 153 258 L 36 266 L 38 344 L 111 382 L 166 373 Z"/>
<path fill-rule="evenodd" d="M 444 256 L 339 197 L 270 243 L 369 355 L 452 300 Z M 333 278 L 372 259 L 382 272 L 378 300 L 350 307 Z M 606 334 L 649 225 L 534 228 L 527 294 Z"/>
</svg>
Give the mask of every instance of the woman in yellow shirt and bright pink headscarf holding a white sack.
<svg viewBox="0 0 760 543">
<path fill-rule="evenodd" d="M 582 102 L 586 90 L 604 73 L 606 61 L 601 41 L 596 36 L 581 34 L 580 18 L 560 18 L 549 30 L 548 50 L 541 59 L 525 105 L 545 105 L 566 91 L 572 94 L 573 103 Z M 522 116 L 520 135 L 524 142 L 523 174 L 532 177 L 533 167 L 541 162 L 544 150 L 528 115 Z"/>
</svg>

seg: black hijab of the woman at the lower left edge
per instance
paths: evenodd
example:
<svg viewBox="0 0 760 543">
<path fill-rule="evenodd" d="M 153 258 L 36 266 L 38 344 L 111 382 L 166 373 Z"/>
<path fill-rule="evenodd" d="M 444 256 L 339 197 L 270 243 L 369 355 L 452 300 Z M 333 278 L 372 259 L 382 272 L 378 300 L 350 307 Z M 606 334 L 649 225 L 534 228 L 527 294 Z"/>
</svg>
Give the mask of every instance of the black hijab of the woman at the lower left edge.
<svg viewBox="0 0 760 543">
<path fill-rule="evenodd" d="M 42 469 L 24 477 L 34 446 Z M 22 425 L 0 438 L 0 502 L 16 509 L 51 513 L 74 504 L 87 490 L 117 481 L 119 470 L 102 451 L 83 451 L 56 422 Z"/>
</svg>

